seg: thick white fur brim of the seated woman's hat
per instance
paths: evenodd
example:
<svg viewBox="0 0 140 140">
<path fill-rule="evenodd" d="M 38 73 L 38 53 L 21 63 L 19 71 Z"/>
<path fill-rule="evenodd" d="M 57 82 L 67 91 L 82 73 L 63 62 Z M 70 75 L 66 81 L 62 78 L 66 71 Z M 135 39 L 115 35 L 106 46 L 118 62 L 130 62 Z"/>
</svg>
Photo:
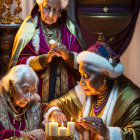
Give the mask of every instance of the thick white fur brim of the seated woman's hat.
<svg viewBox="0 0 140 140">
<path fill-rule="evenodd" d="M 86 62 L 93 64 L 101 72 L 107 72 L 110 78 L 116 78 L 124 72 L 124 67 L 121 63 L 112 66 L 107 59 L 95 53 L 83 51 L 77 57 L 77 62 Z"/>
</svg>

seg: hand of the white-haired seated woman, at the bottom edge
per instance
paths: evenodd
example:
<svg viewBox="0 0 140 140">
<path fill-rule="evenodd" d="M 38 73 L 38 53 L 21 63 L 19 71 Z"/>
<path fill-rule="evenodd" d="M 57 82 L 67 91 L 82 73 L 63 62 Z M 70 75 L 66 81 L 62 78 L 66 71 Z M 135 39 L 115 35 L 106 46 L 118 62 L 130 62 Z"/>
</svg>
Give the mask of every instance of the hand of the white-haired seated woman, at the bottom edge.
<svg viewBox="0 0 140 140">
<path fill-rule="evenodd" d="M 27 137 L 31 140 L 45 140 L 45 133 L 42 129 L 35 129 L 29 132 L 20 131 L 21 137 Z"/>
</svg>

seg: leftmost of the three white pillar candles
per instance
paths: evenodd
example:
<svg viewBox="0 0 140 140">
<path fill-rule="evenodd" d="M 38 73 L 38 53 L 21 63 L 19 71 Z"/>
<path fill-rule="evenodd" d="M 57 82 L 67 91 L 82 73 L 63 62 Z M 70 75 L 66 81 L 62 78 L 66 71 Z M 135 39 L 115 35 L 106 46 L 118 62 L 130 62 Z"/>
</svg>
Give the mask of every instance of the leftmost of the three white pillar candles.
<svg viewBox="0 0 140 140">
<path fill-rule="evenodd" d="M 58 134 L 58 123 L 50 122 L 49 123 L 49 136 L 57 136 Z"/>
</svg>

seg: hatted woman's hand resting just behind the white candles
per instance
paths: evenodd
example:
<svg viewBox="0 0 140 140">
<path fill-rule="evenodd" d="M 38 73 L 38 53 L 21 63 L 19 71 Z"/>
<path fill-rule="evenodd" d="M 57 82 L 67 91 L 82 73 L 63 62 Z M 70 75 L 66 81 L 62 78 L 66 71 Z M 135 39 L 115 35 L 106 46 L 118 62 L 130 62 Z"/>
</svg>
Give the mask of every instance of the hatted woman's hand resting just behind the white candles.
<svg viewBox="0 0 140 140">
<path fill-rule="evenodd" d="M 49 120 L 50 121 L 58 122 L 59 126 L 61 126 L 62 123 L 64 124 L 64 126 L 67 125 L 67 118 L 66 118 L 66 116 L 62 112 L 60 112 L 58 110 L 55 110 L 55 111 L 53 111 L 51 113 Z"/>
</svg>

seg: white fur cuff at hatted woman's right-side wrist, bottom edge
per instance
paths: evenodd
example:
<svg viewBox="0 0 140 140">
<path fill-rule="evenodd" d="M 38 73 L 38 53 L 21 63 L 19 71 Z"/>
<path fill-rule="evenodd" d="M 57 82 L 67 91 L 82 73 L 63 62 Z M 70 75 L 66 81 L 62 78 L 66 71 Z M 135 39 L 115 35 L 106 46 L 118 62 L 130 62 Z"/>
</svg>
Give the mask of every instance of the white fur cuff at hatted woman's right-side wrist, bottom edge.
<svg viewBox="0 0 140 140">
<path fill-rule="evenodd" d="M 121 129 L 119 127 L 108 127 L 110 140 L 122 140 Z"/>
</svg>

